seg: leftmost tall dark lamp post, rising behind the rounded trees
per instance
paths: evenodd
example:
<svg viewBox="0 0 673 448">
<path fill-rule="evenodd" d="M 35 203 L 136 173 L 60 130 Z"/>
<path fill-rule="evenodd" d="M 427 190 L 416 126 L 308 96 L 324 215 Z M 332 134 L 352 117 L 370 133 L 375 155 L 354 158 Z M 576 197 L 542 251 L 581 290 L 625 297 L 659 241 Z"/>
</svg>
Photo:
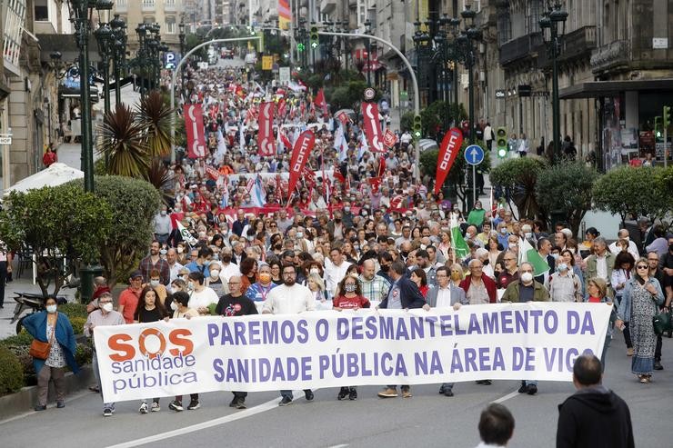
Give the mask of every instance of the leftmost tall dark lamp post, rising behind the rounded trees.
<svg viewBox="0 0 673 448">
<path fill-rule="evenodd" d="M 79 85 L 82 103 L 82 168 L 85 173 L 85 191 L 94 191 L 94 147 L 91 131 L 91 96 L 89 88 L 89 16 L 94 10 L 109 11 L 112 0 L 69 0 L 70 22 L 75 25 L 75 42 L 79 48 Z"/>
</svg>

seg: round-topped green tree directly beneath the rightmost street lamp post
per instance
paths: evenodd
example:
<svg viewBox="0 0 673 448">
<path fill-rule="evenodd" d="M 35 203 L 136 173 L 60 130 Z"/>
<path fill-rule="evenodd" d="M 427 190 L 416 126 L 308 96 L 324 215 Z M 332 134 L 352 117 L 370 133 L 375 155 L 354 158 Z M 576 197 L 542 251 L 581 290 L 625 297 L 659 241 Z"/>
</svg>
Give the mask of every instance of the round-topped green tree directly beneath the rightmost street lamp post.
<svg viewBox="0 0 673 448">
<path fill-rule="evenodd" d="M 562 162 L 548 166 L 537 175 L 537 204 L 564 216 L 573 234 L 591 209 L 591 189 L 598 172 L 581 162 Z"/>
</svg>

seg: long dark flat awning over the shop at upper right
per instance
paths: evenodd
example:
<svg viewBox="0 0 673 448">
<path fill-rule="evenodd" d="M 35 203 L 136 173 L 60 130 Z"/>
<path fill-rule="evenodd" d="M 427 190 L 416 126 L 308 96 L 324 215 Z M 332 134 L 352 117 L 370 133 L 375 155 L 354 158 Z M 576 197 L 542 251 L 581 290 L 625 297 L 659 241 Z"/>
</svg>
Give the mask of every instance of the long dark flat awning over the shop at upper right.
<svg viewBox="0 0 673 448">
<path fill-rule="evenodd" d="M 633 81 L 591 81 L 561 89 L 558 96 L 562 100 L 575 98 L 598 98 L 614 96 L 622 92 L 673 91 L 673 79 L 638 79 Z"/>
</svg>

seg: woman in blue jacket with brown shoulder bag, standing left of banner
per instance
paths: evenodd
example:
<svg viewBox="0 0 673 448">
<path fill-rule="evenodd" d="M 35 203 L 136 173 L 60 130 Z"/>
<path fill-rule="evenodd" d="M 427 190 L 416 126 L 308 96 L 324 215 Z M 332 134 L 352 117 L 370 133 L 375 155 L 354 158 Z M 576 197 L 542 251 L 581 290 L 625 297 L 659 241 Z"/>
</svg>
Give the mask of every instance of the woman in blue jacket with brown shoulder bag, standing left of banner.
<svg viewBox="0 0 673 448">
<path fill-rule="evenodd" d="M 73 373 L 79 371 L 75 362 L 75 333 L 65 314 L 56 311 L 56 298 L 47 295 L 45 311 L 30 314 L 24 319 L 25 330 L 35 338 L 30 354 L 37 373 L 37 405 L 35 411 L 46 409 L 49 381 L 54 382 L 56 407 L 65 407 L 65 365 Z M 48 345 L 46 345 L 48 344 Z"/>
</svg>

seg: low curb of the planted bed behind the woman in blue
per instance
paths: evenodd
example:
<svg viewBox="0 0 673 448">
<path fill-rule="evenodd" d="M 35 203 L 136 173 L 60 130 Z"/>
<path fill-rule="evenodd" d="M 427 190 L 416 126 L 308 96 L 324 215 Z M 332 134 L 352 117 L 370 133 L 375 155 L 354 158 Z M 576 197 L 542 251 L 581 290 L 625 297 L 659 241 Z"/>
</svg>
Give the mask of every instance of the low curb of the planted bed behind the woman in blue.
<svg viewBox="0 0 673 448">
<path fill-rule="evenodd" d="M 91 365 L 85 365 L 76 375 L 72 372 L 65 373 L 65 398 L 67 396 L 86 389 L 94 382 L 94 370 Z M 47 403 L 54 403 L 54 384 L 49 383 L 49 395 Z M 16 416 L 17 414 L 33 412 L 37 403 L 37 386 L 22 388 L 17 393 L 10 393 L 0 397 L 0 423 Z"/>
</svg>

